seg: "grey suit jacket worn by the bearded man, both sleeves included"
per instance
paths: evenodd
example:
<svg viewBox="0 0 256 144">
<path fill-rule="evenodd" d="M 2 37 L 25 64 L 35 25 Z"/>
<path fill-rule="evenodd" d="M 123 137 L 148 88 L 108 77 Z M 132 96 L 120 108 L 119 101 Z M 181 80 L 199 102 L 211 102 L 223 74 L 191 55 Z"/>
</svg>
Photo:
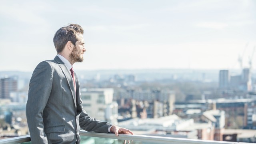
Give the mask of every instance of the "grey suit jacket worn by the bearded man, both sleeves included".
<svg viewBox="0 0 256 144">
<path fill-rule="evenodd" d="M 33 144 L 80 143 L 80 127 L 86 131 L 108 133 L 108 122 L 88 116 L 82 107 L 80 84 L 76 94 L 70 70 L 56 56 L 34 70 L 28 91 L 26 116 Z"/>
</svg>

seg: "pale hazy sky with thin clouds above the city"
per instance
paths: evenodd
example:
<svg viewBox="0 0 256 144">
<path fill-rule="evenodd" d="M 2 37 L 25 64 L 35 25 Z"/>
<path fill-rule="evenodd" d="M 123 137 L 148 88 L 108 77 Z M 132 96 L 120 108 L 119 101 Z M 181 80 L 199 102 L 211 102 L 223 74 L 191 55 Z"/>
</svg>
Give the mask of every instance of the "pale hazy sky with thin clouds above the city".
<svg viewBox="0 0 256 144">
<path fill-rule="evenodd" d="M 52 60 L 69 23 L 85 31 L 75 70 L 256 69 L 256 0 L 1 0 L 0 71 Z"/>
</svg>

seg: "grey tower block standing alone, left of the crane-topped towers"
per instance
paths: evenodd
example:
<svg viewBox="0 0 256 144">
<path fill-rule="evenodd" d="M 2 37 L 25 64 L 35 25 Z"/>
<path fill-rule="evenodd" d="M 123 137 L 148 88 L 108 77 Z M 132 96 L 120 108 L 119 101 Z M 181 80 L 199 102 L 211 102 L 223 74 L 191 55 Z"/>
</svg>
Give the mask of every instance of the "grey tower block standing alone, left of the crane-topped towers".
<svg viewBox="0 0 256 144">
<path fill-rule="evenodd" d="M 228 88 L 230 75 L 228 70 L 220 70 L 219 73 L 219 88 Z"/>
</svg>

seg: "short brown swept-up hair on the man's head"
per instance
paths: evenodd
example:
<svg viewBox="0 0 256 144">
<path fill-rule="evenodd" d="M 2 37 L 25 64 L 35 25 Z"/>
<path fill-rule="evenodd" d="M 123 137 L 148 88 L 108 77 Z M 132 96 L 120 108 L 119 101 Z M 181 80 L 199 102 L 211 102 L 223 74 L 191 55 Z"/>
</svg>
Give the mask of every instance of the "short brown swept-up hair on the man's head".
<svg viewBox="0 0 256 144">
<path fill-rule="evenodd" d="M 62 52 L 68 41 L 76 45 L 76 33 L 84 34 L 84 30 L 79 24 L 69 24 L 69 26 L 64 26 L 57 30 L 53 37 L 57 53 Z"/>
</svg>

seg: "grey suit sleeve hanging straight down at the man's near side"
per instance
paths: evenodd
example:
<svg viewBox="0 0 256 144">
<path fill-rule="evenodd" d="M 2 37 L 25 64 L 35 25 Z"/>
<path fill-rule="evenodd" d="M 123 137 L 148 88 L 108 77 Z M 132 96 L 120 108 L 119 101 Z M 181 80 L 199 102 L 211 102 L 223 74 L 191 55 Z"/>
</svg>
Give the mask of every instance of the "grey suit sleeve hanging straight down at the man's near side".
<svg viewBox="0 0 256 144">
<path fill-rule="evenodd" d="M 48 144 L 44 132 L 43 111 L 52 89 L 52 67 L 46 61 L 38 64 L 29 83 L 26 117 L 30 131 L 31 142 Z"/>
</svg>

